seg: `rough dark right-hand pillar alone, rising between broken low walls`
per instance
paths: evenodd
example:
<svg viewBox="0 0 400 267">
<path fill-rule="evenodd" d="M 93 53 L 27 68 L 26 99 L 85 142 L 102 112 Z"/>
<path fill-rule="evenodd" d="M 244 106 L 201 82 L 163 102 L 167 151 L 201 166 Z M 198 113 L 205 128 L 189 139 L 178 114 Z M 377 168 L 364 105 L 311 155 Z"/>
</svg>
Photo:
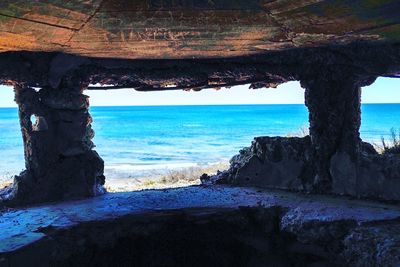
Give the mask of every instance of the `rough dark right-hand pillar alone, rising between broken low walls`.
<svg viewBox="0 0 400 267">
<path fill-rule="evenodd" d="M 317 192 L 332 191 L 332 176 L 356 179 L 360 152 L 361 82 L 346 72 L 316 74 L 304 79 Z M 371 81 L 372 82 L 372 81 Z M 340 168 L 332 168 L 339 166 Z M 348 177 L 346 177 L 348 176 Z"/>
</svg>

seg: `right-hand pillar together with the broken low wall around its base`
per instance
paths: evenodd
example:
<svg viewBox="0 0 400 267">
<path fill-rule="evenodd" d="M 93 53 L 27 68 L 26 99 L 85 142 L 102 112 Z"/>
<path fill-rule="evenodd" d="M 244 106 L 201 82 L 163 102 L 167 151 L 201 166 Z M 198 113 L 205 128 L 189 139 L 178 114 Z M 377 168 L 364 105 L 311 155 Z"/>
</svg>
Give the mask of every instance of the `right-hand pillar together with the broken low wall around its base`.
<svg viewBox="0 0 400 267">
<path fill-rule="evenodd" d="M 361 86 L 374 79 L 353 73 L 343 67 L 303 77 L 310 136 L 255 138 L 221 182 L 400 200 L 400 157 L 379 155 L 360 138 Z"/>
</svg>

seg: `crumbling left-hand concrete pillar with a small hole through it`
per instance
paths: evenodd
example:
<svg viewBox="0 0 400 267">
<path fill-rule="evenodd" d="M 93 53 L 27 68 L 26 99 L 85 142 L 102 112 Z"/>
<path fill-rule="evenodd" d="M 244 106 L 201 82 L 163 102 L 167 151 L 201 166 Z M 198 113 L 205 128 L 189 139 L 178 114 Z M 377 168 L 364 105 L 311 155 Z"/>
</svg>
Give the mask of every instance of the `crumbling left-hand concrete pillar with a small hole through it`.
<svg viewBox="0 0 400 267">
<path fill-rule="evenodd" d="M 92 118 L 82 91 L 15 87 L 26 165 L 14 181 L 16 203 L 90 197 L 103 191 L 104 162 L 92 150 Z"/>
</svg>

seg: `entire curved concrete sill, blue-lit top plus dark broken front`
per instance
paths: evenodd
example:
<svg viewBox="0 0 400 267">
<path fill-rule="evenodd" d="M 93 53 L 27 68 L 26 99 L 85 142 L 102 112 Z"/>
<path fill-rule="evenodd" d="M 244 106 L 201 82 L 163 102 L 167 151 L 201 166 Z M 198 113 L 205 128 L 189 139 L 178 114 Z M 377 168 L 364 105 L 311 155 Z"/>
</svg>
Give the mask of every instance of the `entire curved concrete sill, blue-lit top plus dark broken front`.
<svg viewBox="0 0 400 267">
<path fill-rule="evenodd" d="M 0 266 L 397 266 L 398 206 L 250 188 L 0 213 Z"/>
</svg>

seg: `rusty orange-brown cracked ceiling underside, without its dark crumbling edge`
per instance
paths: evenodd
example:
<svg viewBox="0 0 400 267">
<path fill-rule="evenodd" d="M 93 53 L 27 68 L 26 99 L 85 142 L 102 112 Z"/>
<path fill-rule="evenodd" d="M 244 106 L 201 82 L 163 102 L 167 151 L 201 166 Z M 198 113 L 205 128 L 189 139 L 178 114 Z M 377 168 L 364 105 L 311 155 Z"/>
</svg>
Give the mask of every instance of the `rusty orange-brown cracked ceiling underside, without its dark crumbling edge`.
<svg viewBox="0 0 400 267">
<path fill-rule="evenodd" d="M 396 0 L 89 0 L 0 3 L 0 51 L 160 59 L 399 41 Z"/>
</svg>

